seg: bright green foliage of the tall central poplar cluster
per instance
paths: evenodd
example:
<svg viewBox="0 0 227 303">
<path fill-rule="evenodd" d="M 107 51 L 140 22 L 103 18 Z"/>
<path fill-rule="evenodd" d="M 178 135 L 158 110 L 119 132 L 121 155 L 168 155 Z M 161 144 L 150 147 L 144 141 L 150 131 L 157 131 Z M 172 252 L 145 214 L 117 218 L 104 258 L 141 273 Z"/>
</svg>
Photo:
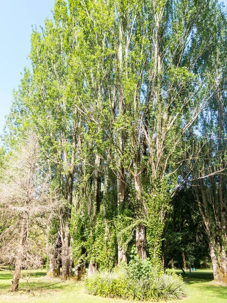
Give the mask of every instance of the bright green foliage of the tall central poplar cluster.
<svg viewBox="0 0 227 303">
<path fill-rule="evenodd" d="M 145 283 L 151 264 L 162 268 L 174 195 L 207 173 L 207 153 L 213 172 L 221 167 L 213 155 L 222 154 L 216 92 L 226 108 L 225 33 L 215 0 L 55 0 L 53 18 L 33 29 L 31 70 L 14 92 L 5 142 L 38 134 L 40 161 L 65 201 L 49 242 L 70 226 L 75 264 L 111 269 L 142 224 L 150 261 L 130 263 L 132 274 Z M 174 245 L 183 237 L 175 233 Z"/>
</svg>

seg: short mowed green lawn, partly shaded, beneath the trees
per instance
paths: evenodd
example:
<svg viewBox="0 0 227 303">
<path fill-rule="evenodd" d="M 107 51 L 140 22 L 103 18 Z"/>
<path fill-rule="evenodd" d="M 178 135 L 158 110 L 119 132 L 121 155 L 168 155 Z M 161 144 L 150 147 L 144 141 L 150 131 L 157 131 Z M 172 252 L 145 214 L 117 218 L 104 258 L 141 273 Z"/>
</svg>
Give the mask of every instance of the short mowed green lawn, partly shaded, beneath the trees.
<svg viewBox="0 0 227 303">
<path fill-rule="evenodd" d="M 181 271 L 176 271 L 181 273 Z M 0 271 L 0 303 L 39 302 L 39 303 L 117 303 L 125 300 L 101 298 L 88 295 L 83 282 L 62 281 L 45 277 L 45 271 L 33 271 L 28 281 L 21 280 L 16 293 L 10 293 L 12 274 Z M 211 270 L 187 272 L 184 280 L 188 297 L 178 302 L 184 303 L 227 303 L 227 286 L 212 282 Z M 163 301 L 161 301 L 163 302 Z"/>
</svg>

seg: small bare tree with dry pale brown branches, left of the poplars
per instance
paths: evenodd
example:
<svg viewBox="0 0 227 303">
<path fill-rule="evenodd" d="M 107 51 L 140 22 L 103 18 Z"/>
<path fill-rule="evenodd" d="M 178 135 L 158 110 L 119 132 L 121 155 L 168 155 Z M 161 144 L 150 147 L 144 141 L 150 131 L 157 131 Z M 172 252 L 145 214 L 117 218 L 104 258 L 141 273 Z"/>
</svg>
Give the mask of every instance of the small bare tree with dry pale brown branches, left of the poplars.
<svg viewBox="0 0 227 303">
<path fill-rule="evenodd" d="M 39 163 L 34 134 L 29 134 L 6 158 L 0 185 L 4 226 L 0 251 L 2 263 L 15 267 L 10 290 L 17 291 L 21 269 L 39 268 L 43 262 L 43 230 L 56 205 L 49 194 L 49 176 Z"/>
</svg>

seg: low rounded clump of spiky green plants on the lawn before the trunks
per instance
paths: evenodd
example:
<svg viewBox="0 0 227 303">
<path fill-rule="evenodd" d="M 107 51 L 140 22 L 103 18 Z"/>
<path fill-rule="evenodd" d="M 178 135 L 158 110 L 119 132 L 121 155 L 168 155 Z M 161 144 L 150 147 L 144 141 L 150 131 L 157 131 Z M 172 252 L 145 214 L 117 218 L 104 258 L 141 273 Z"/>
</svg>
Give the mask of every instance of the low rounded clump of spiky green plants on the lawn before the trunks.
<svg viewBox="0 0 227 303">
<path fill-rule="evenodd" d="M 149 261 L 97 272 L 85 279 L 85 287 L 89 294 L 140 301 L 181 299 L 187 295 L 181 276 L 160 274 L 151 269 Z"/>
</svg>

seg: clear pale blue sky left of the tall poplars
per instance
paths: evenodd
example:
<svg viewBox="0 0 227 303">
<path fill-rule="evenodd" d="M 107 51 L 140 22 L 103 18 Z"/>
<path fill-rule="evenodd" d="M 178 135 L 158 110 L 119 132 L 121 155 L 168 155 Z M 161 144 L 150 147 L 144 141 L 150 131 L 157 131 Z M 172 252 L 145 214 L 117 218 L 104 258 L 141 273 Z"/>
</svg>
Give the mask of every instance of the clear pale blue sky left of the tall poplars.
<svg viewBox="0 0 227 303">
<path fill-rule="evenodd" d="M 10 111 L 12 90 L 20 84 L 24 66 L 30 66 L 31 25 L 51 17 L 54 0 L 0 0 L 0 133 Z"/>
</svg>

